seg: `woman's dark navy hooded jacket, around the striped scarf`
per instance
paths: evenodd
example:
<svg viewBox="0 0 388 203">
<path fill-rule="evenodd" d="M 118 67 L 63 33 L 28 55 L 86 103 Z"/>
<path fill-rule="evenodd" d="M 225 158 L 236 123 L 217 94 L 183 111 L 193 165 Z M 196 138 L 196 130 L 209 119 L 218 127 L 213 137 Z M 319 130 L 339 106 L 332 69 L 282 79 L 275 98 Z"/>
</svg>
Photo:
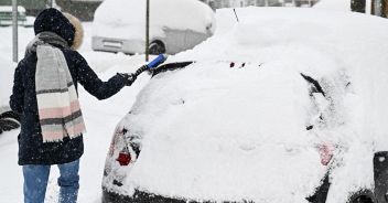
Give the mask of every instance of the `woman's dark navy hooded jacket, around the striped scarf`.
<svg viewBox="0 0 388 203">
<path fill-rule="evenodd" d="M 120 74 L 108 82 L 101 82 L 89 67 L 85 58 L 69 49 L 74 41 L 75 26 L 57 10 L 46 9 L 40 13 L 34 23 L 35 34 L 48 33 L 62 38 L 68 46 L 56 43 L 56 40 L 40 39 L 62 50 L 68 70 L 77 89 L 77 83 L 98 99 L 108 98 L 118 93 L 126 78 Z M 36 52 L 32 43 L 20 61 L 14 73 L 13 93 L 10 106 L 21 115 L 19 141 L 19 164 L 61 164 L 77 160 L 84 153 L 83 136 L 74 139 L 68 137 L 60 142 L 43 142 L 37 114 L 35 92 Z"/>
</svg>

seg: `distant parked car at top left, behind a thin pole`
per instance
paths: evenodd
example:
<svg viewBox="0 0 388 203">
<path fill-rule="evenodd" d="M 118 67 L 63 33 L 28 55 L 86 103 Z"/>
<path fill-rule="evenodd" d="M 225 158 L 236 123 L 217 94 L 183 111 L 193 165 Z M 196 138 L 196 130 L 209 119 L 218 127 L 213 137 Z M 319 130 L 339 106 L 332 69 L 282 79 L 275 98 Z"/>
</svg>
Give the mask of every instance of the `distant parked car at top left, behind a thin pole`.
<svg viewBox="0 0 388 203">
<path fill-rule="evenodd" d="M 23 7 L 18 7 L 18 24 L 22 26 L 33 26 L 34 17 L 28 17 Z M 0 6 L 0 26 L 12 25 L 12 7 Z"/>
</svg>

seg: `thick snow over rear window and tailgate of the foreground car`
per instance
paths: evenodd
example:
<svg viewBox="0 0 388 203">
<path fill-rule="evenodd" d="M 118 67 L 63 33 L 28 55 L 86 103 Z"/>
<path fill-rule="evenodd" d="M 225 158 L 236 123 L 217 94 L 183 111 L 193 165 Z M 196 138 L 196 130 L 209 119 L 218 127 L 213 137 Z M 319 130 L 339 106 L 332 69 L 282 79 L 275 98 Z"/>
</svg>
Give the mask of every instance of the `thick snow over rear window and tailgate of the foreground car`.
<svg viewBox="0 0 388 203">
<path fill-rule="evenodd" d="M 323 168 L 305 131 L 306 83 L 280 65 L 197 63 L 152 79 L 126 120 L 144 135 L 128 183 L 200 200 L 303 202 Z"/>
</svg>

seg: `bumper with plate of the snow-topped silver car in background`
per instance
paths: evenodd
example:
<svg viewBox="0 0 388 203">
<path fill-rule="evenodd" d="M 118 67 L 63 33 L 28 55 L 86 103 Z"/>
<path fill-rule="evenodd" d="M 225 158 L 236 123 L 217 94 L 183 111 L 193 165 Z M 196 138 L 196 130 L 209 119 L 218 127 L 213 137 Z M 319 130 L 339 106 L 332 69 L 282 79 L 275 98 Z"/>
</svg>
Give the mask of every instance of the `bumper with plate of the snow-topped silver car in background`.
<svg viewBox="0 0 388 203">
<path fill-rule="evenodd" d="M 125 40 L 104 36 L 91 38 L 91 49 L 103 52 L 122 52 L 127 54 L 144 53 L 144 42 L 141 40 Z"/>
</svg>

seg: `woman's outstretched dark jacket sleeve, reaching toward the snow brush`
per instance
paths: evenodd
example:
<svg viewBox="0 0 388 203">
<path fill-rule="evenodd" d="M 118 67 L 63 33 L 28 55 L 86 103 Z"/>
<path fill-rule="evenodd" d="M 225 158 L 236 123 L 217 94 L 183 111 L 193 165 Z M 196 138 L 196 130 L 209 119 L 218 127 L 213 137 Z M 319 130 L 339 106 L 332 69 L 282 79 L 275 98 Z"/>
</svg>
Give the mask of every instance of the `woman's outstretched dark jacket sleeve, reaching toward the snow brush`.
<svg viewBox="0 0 388 203">
<path fill-rule="evenodd" d="M 76 60 L 77 79 L 85 89 L 98 99 L 106 99 L 118 93 L 126 83 L 126 78 L 119 74 L 112 76 L 107 82 L 98 78 L 90 68 L 86 60 L 77 53 Z"/>
</svg>

